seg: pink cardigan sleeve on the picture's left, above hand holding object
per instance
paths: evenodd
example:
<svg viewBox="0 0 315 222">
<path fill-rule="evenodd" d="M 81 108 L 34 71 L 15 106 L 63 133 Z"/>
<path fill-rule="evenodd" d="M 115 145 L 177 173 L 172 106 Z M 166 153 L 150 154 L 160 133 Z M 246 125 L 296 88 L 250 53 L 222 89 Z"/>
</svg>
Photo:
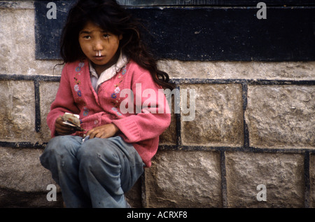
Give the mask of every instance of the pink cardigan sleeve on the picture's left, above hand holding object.
<svg viewBox="0 0 315 222">
<path fill-rule="evenodd" d="M 55 122 L 59 116 L 64 115 L 65 112 L 78 114 L 79 109 L 74 103 L 71 85 L 69 83 L 69 64 L 62 69 L 62 76 L 60 78 L 59 89 L 55 101 L 50 106 L 50 112 L 47 116 L 47 124 L 50 128 L 51 137 L 55 137 Z"/>
</svg>

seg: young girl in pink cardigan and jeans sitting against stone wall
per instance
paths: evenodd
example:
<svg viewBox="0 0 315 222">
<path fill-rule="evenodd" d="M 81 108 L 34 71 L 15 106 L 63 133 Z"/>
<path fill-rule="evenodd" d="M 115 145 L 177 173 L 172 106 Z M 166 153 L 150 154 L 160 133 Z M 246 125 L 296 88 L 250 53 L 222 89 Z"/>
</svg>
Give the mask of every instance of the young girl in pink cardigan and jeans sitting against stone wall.
<svg viewBox="0 0 315 222">
<path fill-rule="evenodd" d="M 138 27 L 115 0 L 81 0 L 69 11 L 61 42 L 66 64 L 47 117 L 52 139 L 40 158 L 66 207 L 127 207 L 124 193 L 151 167 L 169 126 L 159 89 L 172 85 Z M 123 90 L 130 93 L 121 97 Z M 64 113 L 78 114 L 84 131 L 66 125 Z"/>
</svg>

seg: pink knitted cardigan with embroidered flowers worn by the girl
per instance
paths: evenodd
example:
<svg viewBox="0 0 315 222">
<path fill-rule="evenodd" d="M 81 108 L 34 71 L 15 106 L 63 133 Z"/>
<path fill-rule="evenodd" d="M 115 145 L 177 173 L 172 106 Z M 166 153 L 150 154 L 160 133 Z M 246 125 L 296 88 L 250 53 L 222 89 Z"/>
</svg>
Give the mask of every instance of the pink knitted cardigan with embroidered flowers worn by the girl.
<svg viewBox="0 0 315 222">
<path fill-rule="evenodd" d="M 132 91 L 120 97 L 124 89 Z M 67 63 L 47 116 L 51 136 L 55 137 L 56 119 L 65 112 L 80 115 L 80 126 L 85 130 L 113 123 L 120 130 L 118 136 L 133 144 L 146 167 L 151 167 L 151 158 L 158 151 L 159 136 L 171 120 L 167 99 L 159 89 L 148 71 L 130 61 L 115 76 L 102 83 L 96 93 L 90 81 L 88 60 Z M 140 101 L 142 106 L 139 107 Z M 122 102 L 122 107 L 129 108 L 127 113 L 120 110 Z M 76 135 L 82 137 L 83 133 L 76 132 Z"/>
</svg>

